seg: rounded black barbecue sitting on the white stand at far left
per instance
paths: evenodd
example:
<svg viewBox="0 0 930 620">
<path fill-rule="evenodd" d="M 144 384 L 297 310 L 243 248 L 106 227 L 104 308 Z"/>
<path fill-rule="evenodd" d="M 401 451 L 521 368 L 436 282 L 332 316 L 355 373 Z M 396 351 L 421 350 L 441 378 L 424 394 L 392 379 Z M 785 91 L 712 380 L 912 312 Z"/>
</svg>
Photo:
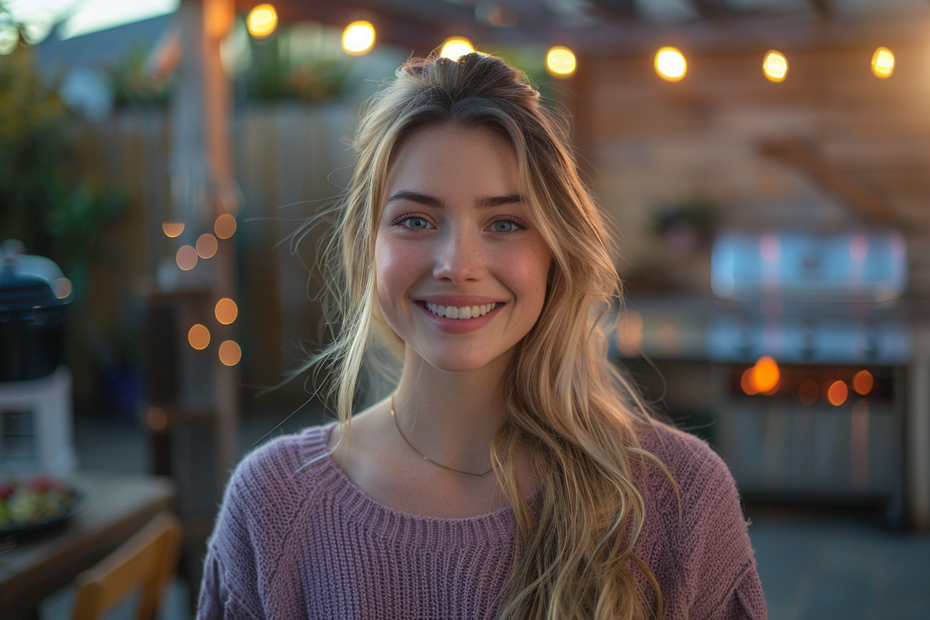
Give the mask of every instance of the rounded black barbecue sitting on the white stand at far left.
<svg viewBox="0 0 930 620">
<path fill-rule="evenodd" d="M 0 244 L 0 382 L 51 375 L 63 362 L 71 282 L 46 257 Z"/>
</svg>

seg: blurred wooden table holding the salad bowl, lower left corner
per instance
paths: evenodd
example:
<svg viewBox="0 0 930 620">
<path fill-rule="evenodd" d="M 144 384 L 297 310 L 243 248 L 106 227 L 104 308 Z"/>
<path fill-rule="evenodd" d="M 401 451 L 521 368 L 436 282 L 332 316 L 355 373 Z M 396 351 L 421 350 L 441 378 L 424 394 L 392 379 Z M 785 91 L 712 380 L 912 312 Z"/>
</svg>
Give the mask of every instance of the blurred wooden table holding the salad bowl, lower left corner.
<svg viewBox="0 0 930 620">
<path fill-rule="evenodd" d="M 83 508 L 56 529 L 0 553 L 0 617 L 32 620 L 39 602 L 109 555 L 155 514 L 174 508 L 167 478 L 79 472 Z M 9 547 L 0 541 L 0 548 Z"/>
</svg>

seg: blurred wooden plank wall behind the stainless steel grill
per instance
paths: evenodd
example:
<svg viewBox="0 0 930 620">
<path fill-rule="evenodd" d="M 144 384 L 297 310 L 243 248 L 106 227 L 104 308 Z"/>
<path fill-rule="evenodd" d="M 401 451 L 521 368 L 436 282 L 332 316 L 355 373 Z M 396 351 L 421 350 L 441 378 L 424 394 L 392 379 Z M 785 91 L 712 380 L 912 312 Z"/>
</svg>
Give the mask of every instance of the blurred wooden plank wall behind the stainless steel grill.
<svg viewBox="0 0 930 620">
<path fill-rule="evenodd" d="M 591 187 L 618 224 L 618 267 L 631 287 L 710 295 L 710 254 L 673 256 L 651 234 L 663 204 L 693 198 L 720 207 L 725 228 L 840 231 L 897 228 L 910 255 L 910 295 L 930 295 L 930 44 L 869 41 L 780 50 L 787 79 L 764 78 L 766 47 L 685 54 L 688 73 L 662 81 L 651 55 L 579 59 L 565 102 Z M 870 70 L 878 45 L 897 66 Z M 764 156 L 763 140 L 790 139 L 888 204 L 870 223 L 817 179 Z M 647 278 L 647 273 L 664 273 Z"/>
</svg>

